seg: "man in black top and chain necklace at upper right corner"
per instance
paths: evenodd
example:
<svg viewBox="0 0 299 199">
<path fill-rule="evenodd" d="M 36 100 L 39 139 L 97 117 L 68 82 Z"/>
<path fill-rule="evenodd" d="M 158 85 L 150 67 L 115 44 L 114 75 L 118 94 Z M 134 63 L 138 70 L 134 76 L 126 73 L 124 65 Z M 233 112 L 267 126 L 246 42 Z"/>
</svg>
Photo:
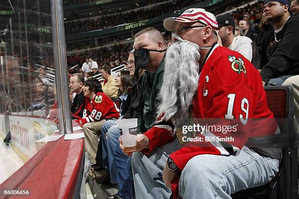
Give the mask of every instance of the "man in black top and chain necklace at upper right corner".
<svg viewBox="0 0 299 199">
<path fill-rule="evenodd" d="M 291 16 L 288 0 L 265 0 L 265 20 L 274 30 L 272 55 L 262 65 L 260 75 L 263 85 L 281 85 L 287 78 L 299 75 L 299 18 Z M 267 41 L 262 41 L 262 49 Z M 262 58 L 263 59 L 263 58 Z"/>
</svg>

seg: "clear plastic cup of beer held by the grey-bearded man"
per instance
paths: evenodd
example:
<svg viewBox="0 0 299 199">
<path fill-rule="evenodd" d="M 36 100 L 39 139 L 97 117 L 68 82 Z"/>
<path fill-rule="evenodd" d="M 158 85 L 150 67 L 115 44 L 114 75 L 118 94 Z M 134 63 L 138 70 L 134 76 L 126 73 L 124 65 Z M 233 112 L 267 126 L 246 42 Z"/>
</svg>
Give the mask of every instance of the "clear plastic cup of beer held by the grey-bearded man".
<svg viewBox="0 0 299 199">
<path fill-rule="evenodd" d="M 124 152 L 136 151 L 137 118 L 118 120 L 118 127 L 122 134 Z"/>
</svg>

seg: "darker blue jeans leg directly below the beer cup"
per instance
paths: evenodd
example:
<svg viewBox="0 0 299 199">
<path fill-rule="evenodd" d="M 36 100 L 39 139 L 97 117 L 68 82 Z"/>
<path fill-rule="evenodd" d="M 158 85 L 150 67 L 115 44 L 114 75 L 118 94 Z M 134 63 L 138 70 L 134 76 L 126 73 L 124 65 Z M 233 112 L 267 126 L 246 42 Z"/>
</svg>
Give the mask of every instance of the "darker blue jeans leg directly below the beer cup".
<svg viewBox="0 0 299 199">
<path fill-rule="evenodd" d="M 118 145 L 114 151 L 114 159 L 115 164 L 117 165 L 117 184 L 119 195 L 122 199 L 134 199 L 131 168 L 132 158 L 125 155 Z"/>
</svg>

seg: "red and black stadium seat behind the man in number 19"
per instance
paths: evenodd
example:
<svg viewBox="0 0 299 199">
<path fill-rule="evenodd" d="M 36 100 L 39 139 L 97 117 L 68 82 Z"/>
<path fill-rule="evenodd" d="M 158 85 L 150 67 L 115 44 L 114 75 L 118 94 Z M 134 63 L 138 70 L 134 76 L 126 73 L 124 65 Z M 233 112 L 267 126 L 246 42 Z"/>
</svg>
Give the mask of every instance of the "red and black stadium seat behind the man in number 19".
<svg viewBox="0 0 299 199">
<path fill-rule="evenodd" d="M 291 86 L 267 86 L 264 88 L 268 107 L 278 121 L 281 135 L 287 135 L 288 141 L 293 141 L 293 145 L 283 148 L 279 172 L 274 179 L 263 186 L 241 190 L 232 194 L 232 198 L 263 196 L 263 198 L 268 199 L 298 199 L 298 139 L 297 135 L 294 137 L 293 130 L 293 88 Z M 281 122 L 282 119 L 283 122 Z"/>
</svg>

